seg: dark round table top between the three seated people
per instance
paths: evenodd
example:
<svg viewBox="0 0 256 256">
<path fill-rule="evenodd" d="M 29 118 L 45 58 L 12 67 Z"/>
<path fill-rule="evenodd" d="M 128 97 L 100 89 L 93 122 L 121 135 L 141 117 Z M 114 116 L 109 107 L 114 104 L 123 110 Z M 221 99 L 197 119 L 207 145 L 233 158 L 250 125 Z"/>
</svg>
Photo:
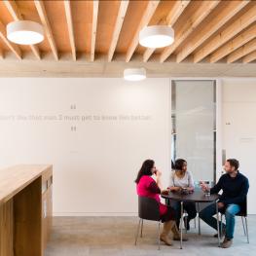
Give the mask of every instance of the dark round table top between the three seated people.
<svg viewBox="0 0 256 256">
<path fill-rule="evenodd" d="M 164 199 L 173 201 L 195 201 L 195 202 L 211 202 L 217 201 L 219 198 L 218 194 L 205 196 L 202 191 L 194 191 L 192 194 L 183 195 L 178 192 L 169 192 L 168 195 L 161 195 Z"/>
</svg>

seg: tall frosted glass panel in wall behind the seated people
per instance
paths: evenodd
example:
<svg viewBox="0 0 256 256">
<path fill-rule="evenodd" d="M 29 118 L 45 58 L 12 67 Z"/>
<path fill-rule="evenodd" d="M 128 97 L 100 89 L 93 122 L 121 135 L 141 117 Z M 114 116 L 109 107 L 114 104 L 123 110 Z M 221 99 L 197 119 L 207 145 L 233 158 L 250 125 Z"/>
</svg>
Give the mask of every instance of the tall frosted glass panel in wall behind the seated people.
<svg viewBox="0 0 256 256">
<path fill-rule="evenodd" d="M 185 159 L 195 181 L 215 181 L 215 120 L 215 81 L 172 81 L 171 160 Z"/>
</svg>

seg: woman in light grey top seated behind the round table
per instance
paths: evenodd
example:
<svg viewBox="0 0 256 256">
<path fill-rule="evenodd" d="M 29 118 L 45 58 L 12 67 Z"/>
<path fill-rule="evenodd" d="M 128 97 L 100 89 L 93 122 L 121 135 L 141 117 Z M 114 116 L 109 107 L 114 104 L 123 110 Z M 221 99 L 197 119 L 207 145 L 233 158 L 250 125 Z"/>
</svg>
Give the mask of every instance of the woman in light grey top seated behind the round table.
<svg viewBox="0 0 256 256">
<path fill-rule="evenodd" d="M 178 159 L 174 163 L 174 170 L 171 171 L 168 190 L 172 192 L 179 192 L 181 189 L 187 189 L 192 193 L 195 189 L 193 176 L 187 170 L 187 162 L 183 159 Z M 179 227 L 181 209 L 180 201 L 172 201 L 170 205 L 176 210 L 176 225 Z M 197 216 L 196 204 L 194 201 L 184 201 L 183 208 L 188 215 L 184 217 L 184 225 L 187 230 L 190 230 L 190 221 Z"/>
</svg>

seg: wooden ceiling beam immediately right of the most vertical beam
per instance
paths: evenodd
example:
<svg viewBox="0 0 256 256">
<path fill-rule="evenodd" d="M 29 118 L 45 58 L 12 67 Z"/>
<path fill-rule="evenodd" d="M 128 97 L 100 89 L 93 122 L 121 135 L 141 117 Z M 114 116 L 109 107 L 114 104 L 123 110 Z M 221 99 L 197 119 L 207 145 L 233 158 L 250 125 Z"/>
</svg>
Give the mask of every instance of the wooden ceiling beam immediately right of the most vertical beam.
<svg viewBox="0 0 256 256">
<path fill-rule="evenodd" d="M 121 31 L 127 10 L 128 10 L 128 0 L 121 0 L 114 32 L 111 39 L 111 44 L 108 51 L 108 61 L 112 60 L 112 57 L 115 53 L 120 31 Z"/>
</svg>

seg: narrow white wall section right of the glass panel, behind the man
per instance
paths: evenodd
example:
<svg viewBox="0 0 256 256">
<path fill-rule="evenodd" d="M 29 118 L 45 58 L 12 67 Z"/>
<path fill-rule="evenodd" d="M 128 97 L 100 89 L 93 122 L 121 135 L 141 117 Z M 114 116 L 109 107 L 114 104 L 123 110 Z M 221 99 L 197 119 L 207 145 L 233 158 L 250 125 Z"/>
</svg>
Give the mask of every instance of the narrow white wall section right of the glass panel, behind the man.
<svg viewBox="0 0 256 256">
<path fill-rule="evenodd" d="M 223 149 L 249 178 L 248 211 L 256 213 L 256 79 L 223 79 Z"/>
</svg>

